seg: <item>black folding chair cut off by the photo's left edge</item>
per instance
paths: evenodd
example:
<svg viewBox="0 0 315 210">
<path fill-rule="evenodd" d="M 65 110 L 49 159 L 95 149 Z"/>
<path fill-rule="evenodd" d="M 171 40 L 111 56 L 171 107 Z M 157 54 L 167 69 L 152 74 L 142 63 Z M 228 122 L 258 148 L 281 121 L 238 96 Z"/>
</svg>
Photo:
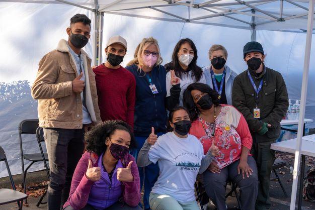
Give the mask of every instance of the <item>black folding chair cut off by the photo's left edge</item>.
<svg viewBox="0 0 315 210">
<path fill-rule="evenodd" d="M 6 163 L 6 167 L 8 170 L 9 177 L 10 177 L 12 189 L 6 189 L 6 188 L 0 189 L 0 205 L 4 205 L 7 203 L 11 203 L 11 202 L 18 202 L 19 209 L 22 209 L 23 199 L 27 198 L 27 194 L 16 191 L 15 184 L 14 184 L 12 174 L 10 171 L 10 167 L 8 164 L 8 160 L 6 157 L 6 153 L 2 147 L 0 147 L 0 162 L 1 161 L 5 161 L 5 163 Z"/>
</svg>

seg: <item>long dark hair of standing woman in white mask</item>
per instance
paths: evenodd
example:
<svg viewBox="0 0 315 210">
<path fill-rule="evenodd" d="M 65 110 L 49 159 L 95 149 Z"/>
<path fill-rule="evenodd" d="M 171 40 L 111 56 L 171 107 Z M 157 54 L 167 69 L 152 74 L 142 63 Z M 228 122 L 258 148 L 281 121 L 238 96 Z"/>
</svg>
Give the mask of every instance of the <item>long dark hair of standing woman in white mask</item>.
<svg viewBox="0 0 315 210">
<path fill-rule="evenodd" d="M 191 63 L 188 65 L 188 70 L 192 70 L 193 72 L 192 77 L 194 81 L 197 82 L 201 79 L 203 72 L 202 72 L 202 69 L 197 65 L 197 58 L 198 58 L 197 47 L 194 44 L 194 42 L 189 38 L 181 39 L 180 41 L 178 41 L 178 43 L 175 45 L 175 48 L 172 54 L 172 61 L 170 63 L 165 64 L 164 67 L 166 68 L 167 71 L 174 69 L 176 76 L 181 79 L 185 76 L 187 71 L 182 69 L 181 65 L 179 64 L 178 57 L 177 57 L 177 53 L 179 52 L 181 46 L 185 43 L 188 43 L 194 51 L 194 58 L 191 61 Z"/>
</svg>

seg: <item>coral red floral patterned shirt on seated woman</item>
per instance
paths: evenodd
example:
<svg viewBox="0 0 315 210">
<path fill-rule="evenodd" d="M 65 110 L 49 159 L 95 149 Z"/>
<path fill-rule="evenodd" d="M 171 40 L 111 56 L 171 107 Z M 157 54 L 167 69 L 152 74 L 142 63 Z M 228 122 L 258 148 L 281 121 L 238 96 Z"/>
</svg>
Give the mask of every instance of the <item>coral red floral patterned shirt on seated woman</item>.
<svg viewBox="0 0 315 210">
<path fill-rule="evenodd" d="M 222 109 L 215 120 L 214 135 L 215 145 L 219 148 L 220 152 L 214 161 L 221 169 L 241 158 L 242 146 L 251 150 L 253 139 L 243 115 L 233 106 L 220 105 Z M 213 128 L 211 128 L 210 123 L 200 118 L 192 123 L 189 131 L 203 145 L 204 154 L 208 152 L 213 140 L 213 137 L 210 138 L 206 132 L 211 136 Z"/>
</svg>

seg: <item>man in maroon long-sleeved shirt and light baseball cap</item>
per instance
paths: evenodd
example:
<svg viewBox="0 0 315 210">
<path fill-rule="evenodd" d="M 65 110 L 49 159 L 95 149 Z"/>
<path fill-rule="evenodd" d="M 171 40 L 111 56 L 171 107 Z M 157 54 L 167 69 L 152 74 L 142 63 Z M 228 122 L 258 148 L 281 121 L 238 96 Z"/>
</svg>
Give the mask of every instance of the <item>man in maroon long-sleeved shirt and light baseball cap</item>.
<svg viewBox="0 0 315 210">
<path fill-rule="evenodd" d="M 136 81 L 122 67 L 127 42 L 121 36 L 109 39 L 105 48 L 107 62 L 93 69 L 102 121 L 123 120 L 133 128 Z"/>
</svg>

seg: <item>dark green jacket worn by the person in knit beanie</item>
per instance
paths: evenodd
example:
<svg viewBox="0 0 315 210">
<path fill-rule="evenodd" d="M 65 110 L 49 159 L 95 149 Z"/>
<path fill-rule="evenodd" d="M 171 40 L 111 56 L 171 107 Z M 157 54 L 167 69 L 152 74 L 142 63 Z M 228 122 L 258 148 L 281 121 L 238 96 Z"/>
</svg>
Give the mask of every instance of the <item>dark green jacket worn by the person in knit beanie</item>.
<svg viewBox="0 0 315 210">
<path fill-rule="evenodd" d="M 264 66 L 265 67 L 265 66 Z M 251 130 L 254 142 L 267 142 L 279 138 L 280 121 L 285 117 L 288 109 L 288 93 L 282 75 L 270 68 L 265 68 L 259 76 L 250 70 L 252 78 L 259 86 L 263 79 L 263 86 L 258 93 L 257 107 L 260 109 L 260 119 L 254 118 L 256 108 L 256 92 L 248 77 L 247 70 L 234 79 L 232 89 L 232 104 L 245 117 Z M 264 135 L 258 135 L 263 123 L 271 128 Z"/>
</svg>

